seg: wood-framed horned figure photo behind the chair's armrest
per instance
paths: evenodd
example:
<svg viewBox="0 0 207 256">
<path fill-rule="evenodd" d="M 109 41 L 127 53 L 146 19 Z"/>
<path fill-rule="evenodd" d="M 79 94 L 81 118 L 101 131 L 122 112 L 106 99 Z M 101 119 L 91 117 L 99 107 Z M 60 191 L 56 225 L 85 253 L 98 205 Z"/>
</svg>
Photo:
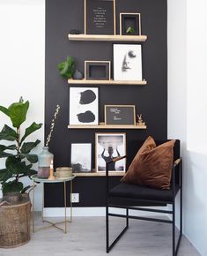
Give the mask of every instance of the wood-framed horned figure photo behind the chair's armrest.
<svg viewBox="0 0 207 256">
<path fill-rule="evenodd" d="M 126 154 L 126 133 L 100 132 L 95 134 L 96 171 L 106 171 L 106 162 Z M 109 164 L 110 171 L 126 170 L 126 161 L 122 159 Z"/>
</svg>

